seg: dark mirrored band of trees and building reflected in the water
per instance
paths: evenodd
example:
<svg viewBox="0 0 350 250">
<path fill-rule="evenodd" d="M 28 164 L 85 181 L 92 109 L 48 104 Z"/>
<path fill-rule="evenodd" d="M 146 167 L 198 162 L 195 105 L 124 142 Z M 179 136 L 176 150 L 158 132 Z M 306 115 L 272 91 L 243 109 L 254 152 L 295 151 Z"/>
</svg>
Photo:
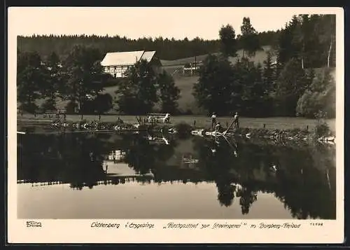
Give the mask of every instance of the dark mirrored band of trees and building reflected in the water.
<svg viewBox="0 0 350 250">
<path fill-rule="evenodd" d="M 68 184 L 73 190 L 140 183 L 139 193 L 145 185 L 207 183 L 217 190 L 217 197 L 208 192 L 208 199 L 228 209 L 237 202 L 242 215 L 269 194 L 293 218 L 335 218 L 335 148 L 324 145 L 171 134 L 20 134 L 18 185 L 25 183 L 33 188 Z M 200 193 L 179 190 L 168 196 L 190 202 Z"/>
</svg>

